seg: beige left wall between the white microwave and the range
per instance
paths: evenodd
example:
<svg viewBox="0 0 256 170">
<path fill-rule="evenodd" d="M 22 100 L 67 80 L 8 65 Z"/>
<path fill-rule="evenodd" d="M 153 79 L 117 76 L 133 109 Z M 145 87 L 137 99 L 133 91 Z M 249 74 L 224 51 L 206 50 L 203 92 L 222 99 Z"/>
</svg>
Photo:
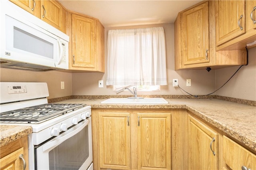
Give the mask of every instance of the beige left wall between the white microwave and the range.
<svg viewBox="0 0 256 170">
<path fill-rule="evenodd" d="M 0 68 L 0 81 L 46 82 L 49 90 L 48 99 L 72 95 L 72 74 L 60 71 L 24 71 L 19 69 Z M 60 89 L 64 81 L 65 89 Z"/>
</svg>

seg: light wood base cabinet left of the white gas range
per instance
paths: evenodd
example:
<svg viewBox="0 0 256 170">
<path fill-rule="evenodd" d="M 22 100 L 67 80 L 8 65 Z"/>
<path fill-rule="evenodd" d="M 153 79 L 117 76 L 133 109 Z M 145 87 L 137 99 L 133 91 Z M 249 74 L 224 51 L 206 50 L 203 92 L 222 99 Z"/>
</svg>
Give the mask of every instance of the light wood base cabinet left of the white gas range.
<svg viewBox="0 0 256 170">
<path fill-rule="evenodd" d="M 0 154 L 1 170 L 23 170 L 24 164 L 20 158 L 21 154 L 26 162 L 26 170 L 28 170 L 28 136 L 2 146 Z"/>
</svg>

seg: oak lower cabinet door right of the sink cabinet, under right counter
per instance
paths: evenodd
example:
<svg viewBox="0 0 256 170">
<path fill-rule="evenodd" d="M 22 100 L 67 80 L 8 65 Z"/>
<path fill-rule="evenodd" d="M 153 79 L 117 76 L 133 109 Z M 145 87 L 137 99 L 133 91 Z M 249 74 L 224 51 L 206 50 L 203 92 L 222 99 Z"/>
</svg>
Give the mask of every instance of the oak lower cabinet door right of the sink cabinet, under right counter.
<svg viewBox="0 0 256 170">
<path fill-rule="evenodd" d="M 218 169 L 218 134 L 216 132 L 188 115 L 188 140 L 189 169 Z"/>
</svg>

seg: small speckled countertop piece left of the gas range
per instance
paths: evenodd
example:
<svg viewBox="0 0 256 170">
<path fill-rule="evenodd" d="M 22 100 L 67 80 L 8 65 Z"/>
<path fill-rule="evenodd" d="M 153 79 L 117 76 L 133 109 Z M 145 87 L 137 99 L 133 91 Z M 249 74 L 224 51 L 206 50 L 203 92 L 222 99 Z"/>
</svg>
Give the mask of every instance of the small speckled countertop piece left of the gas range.
<svg viewBox="0 0 256 170">
<path fill-rule="evenodd" d="M 32 126 L 1 125 L 0 147 L 32 133 Z"/>
</svg>

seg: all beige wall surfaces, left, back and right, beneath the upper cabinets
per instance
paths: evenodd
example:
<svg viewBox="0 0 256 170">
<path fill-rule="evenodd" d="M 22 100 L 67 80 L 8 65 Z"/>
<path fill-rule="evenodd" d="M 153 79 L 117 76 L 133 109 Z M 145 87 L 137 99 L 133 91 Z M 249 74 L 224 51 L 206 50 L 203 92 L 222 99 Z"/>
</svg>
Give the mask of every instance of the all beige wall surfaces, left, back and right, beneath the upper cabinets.
<svg viewBox="0 0 256 170">
<path fill-rule="evenodd" d="M 165 30 L 168 85 L 161 86 L 160 91 L 138 92 L 138 95 L 187 95 L 178 87 L 172 87 L 172 79 L 178 79 L 179 85 L 191 94 L 205 95 L 212 93 L 215 89 L 220 87 L 238 69 L 238 66 L 236 66 L 211 70 L 210 72 L 206 70 L 175 71 L 174 24 L 157 24 L 149 26 L 163 26 Z M 134 27 L 141 28 L 145 26 Z M 109 29 L 116 28 L 105 28 L 105 40 L 107 40 Z M 107 41 L 105 41 L 105 43 L 106 42 Z M 214 94 L 256 101 L 255 54 L 256 48 L 249 49 L 249 64 L 243 66 L 230 82 Z M 106 76 L 106 73 L 63 73 L 59 71 L 34 72 L 0 68 L 0 81 L 46 82 L 50 93 L 48 99 L 69 95 L 116 95 L 112 90 L 112 86 L 106 87 Z M 186 87 L 186 79 L 192 79 L 191 87 Z M 104 88 L 98 88 L 98 80 L 104 80 Z M 64 90 L 60 89 L 60 81 L 65 81 Z M 130 95 L 130 92 L 124 91 L 118 95 Z"/>
</svg>

